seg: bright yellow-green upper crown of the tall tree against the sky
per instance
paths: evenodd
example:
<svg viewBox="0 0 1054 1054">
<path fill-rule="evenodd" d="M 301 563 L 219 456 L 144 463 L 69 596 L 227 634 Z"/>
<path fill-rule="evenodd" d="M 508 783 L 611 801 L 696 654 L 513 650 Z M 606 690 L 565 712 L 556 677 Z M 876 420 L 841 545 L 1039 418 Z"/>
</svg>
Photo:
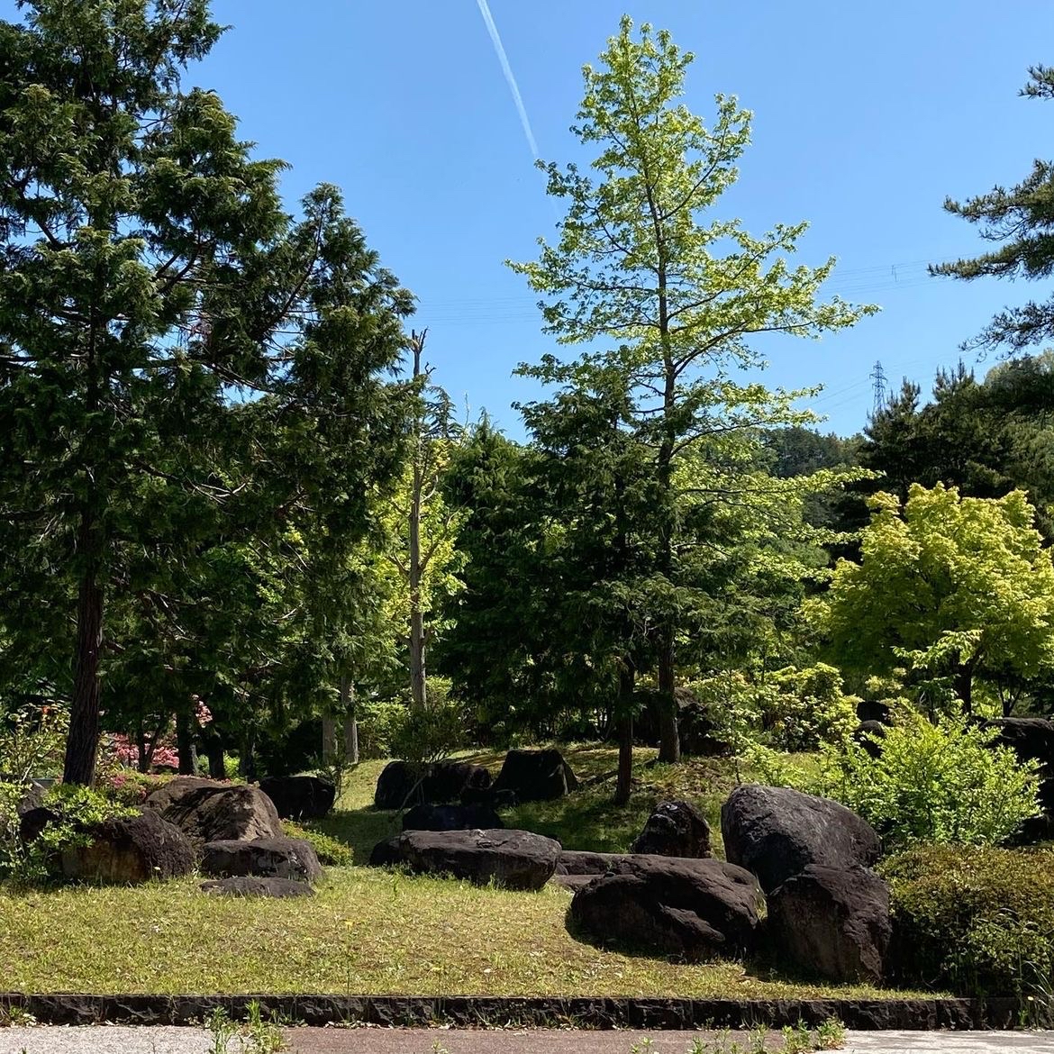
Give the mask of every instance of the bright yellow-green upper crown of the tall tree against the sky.
<svg viewBox="0 0 1054 1054">
<path fill-rule="evenodd" d="M 554 246 L 540 241 L 539 260 L 511 265 L 547 298 L 550 332 L 566 344 L 617 339 L 620 365 L 640 371 L 642 384 L 657 358 L 679 364 L 667 372 L 684 383 L 681 373 L 697 362 L 758 362 L 750 334 L 816 336 L 873 310 L 838 298 L 817 302 L 834 260 L 808 268 L 784 258 L 805 223 L 778 225 L 756 238 L 739 220 L 703 219 L 736 181 L 750 114 L 718 96 L 707 128 L 679 102 L 691 60 L 665 31 L 645 24 L 635 39 L 623 19 L 601 67 L 583 72 L 585 97 L 572 128 L 600 148 L 596 176 L 544 165 L 548 192 L 567 206 L 561 237 Z M 568 379 L 554 360 L 525 372 Z"/>
</svg>

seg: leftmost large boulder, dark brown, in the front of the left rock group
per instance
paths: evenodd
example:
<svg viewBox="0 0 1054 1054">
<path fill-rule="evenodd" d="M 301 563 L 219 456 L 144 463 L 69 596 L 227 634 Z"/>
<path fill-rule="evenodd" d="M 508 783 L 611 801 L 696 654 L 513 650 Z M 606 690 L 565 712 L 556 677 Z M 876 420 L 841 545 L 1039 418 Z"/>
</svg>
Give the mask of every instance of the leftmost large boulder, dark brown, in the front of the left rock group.
<svg viewBox="0 0 1054 1054">
<path fill-rule="evenodd" d="M 84 834 L 87 844 L 67 846 L 58 855 L 59 870 L 71 881 L 138 885 L 194 870 L 187 836 L 155 812 L 108 820 Z"/>
</svg>

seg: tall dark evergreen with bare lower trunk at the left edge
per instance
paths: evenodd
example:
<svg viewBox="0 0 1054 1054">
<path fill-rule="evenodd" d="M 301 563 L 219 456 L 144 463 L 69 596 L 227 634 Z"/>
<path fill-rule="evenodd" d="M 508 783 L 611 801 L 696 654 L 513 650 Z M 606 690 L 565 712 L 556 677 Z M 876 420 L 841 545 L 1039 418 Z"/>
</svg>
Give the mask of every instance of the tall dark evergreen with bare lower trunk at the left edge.
<svg viewBox="0 0 1054 1054">
<path fill-rule="evenodd" d="M 332 188 L 293 223 L 282 164 L 252 158 L 214 93 L 181 90 L 220 34 L 208 0 L 24 7 L 0 23 L 2 586 L 8 624 L 16 605 L 61 612 L 40 644 L 71 660 L 64 778 L 87 783 L 110 604 L 154 590 L 168 618 L 158 569 L 223 541 L 234 510 L 280 520 L 295 497 L 333 536 L 362 495 L 312 499 L 370 434 L 341 401 L 394 363 L 409 298 Z M 270 397 L 232 409 L 254 391 Z M 258 485 L 232 477 L 232 446 Z"/>
</svg>

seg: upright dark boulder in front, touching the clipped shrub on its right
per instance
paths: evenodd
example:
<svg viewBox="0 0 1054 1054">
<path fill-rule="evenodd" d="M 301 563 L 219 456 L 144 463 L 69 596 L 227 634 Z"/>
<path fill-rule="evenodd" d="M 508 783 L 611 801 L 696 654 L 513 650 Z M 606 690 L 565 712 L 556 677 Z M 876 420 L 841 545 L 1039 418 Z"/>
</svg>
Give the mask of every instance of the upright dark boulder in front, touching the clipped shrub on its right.
<svg viewBox="0 0 1054 1054">
<path fill-rule="evenodd" d="M 879 984 L 892 924 L 873 871 L 809 864 L 768 895 L 767 946 L 781 967 L 838 983 Z"/>
</svg>

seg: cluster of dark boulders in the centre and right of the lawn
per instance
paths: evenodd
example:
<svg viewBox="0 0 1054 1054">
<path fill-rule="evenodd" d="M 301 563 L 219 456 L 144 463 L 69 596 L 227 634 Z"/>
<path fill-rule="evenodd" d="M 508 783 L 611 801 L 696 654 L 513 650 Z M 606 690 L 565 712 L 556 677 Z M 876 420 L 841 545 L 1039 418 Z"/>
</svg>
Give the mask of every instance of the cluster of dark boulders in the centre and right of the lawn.
<svg viewBox="0 0 1054 1054">
<path fill-rule="evenodd" d="M 511 752 L 493 787 L 519 797 L 575 785 L 559 752 L 544 753 Z M 473 768 L 418 773 L 416 792 L 442 781 L 450 797 L 462 798 L 469 782 L 493 789 Z M 879 839 L 825 798 L 738 787 L 721 811 L 727 861 L 713 858 L 709 825 L 683 801 L 658 804 L 626 854 L 566 851 L 554 839 L 506 829 L 490 805 L 463 798 L 417 804 L 403 826 L 374 847 L 371 864 L 511 890 L 554 881 L 573 891 L 568 924 L 587 940 L 692 961 L 764 956 L 834 981 L 878 983 L 885 973 L 890 891 L 871 870 Z"/>
</svg>

